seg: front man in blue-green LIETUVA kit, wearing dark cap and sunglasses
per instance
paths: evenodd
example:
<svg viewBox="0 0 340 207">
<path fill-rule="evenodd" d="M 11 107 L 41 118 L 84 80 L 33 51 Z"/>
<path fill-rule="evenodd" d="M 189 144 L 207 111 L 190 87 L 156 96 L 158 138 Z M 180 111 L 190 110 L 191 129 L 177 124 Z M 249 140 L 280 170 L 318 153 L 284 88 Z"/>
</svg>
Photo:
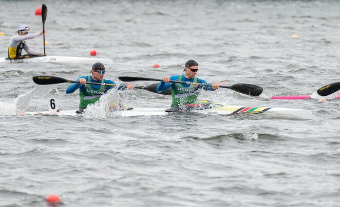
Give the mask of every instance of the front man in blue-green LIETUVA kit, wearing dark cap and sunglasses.
<svg viewBox="0 0 340 207">
<path fill-rule="evenodd" d="M 195 103 L 200 91 L 203 89 L 205 91 L 215 91 L 218 89 L 219 84 L 214 83 L 212 86 L 202 86 L 202 85 L 191 85 L 191 84 L 179 84 L 170 82 L 170 80 L 184 81 L 184 82 L 197 82 L 199 84 L 207 84 L 203 79 L 197 78 L 196 74 L 198 72 L 198 63 L 190 59 L 185 63 L 184 74 L 174 75 L 171 77 L 163 77 L 158 87 L 157 92 L 167 90 L 171 87 L 172 90 L 172 108 L 178 108 L 182 105 L 188 105 Z"/>
</svg>

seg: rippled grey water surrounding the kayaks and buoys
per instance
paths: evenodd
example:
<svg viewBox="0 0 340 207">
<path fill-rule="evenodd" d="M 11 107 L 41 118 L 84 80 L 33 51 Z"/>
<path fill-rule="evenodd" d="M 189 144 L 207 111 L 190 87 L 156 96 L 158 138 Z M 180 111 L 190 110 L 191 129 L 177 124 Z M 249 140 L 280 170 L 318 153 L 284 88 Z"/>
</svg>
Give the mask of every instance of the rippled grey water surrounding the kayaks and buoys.
<svg viewBox="0 0 340 207">
<path fill-rule="evenodd" d="M 40 1 L 0 1 L 0 56 L 20 24 L 42 29 Z M 339 206 L 339 101 L 270 100 L 313 94 L 338 81 L 337 1 L 46 1 L 48 55 L 114 60 L 106 78 L 181 74 L 195 59 L 198 77 L 264 88 L 260 97 L 228 89 L 202 92 L 224 105 L 308 109 L 313 120 L 172 114 L 26 116 L 50 97 L 76 109 L 67 84 L 34 85 L 34 75 L 77 79 L 83 64 L 1 64 L 0 206 Z M 292 38 L 296 34 L 298 38 Z M 27 41 L 43 51 L 42 38 Z M 158 63 L 160 68 L 152 66 Z M 148 85 L 154 82 L 136 82 Z M 141 90 L 109 94 L 135 107 L 171 99 Z"/>
</svg>

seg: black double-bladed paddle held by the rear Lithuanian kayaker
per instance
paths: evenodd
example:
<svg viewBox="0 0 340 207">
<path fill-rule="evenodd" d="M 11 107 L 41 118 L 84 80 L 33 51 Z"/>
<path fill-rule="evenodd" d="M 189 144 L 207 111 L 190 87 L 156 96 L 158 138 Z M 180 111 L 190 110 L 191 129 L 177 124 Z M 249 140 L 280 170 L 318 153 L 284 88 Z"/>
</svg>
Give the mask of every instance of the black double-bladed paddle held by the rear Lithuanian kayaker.
<svg viewBox="0 0 340 207">
<path fill-rule="evenodd" d="M 35 82 L 35 84 L 37 84 L 37 85 L 62 84 L 63 82 L 74 82 L 76 84 L 80 84 L 80 81 L 67 80 L 67 79 L 62 78 L 62 77 L 49 76 L 49 75 L 38 75 L 38 76 L 34 76 L 32 79 L 33 79 L 33 82 Z M 102 82 L 86 82 L 86 84 L 103 85 L 103 86 L 116 86 L 115 84 L 105 84 L 105 82 L 103 82 L 103 83 Z M 156 91 L 157 86 L 158 86 L 158 84 L 152 84 L 152 85 L 149 85 L 149 86 L 135 86 L 134 88 L 144 89 L 146 91 L 157 93 L 157 91 Z M 163 91 L 161 94 L 171 95 L 171 90 Z"/>
</svg>

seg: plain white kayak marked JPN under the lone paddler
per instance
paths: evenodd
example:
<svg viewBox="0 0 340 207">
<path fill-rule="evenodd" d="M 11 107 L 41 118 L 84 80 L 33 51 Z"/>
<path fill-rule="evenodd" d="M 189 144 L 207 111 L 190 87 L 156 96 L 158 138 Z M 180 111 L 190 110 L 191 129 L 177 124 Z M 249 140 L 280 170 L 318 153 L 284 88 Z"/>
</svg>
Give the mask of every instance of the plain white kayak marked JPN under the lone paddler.
<svg viewBox="0 0 340 207">
<path fill-rule="evenodd" d="M 102 64 L 113 64 L 111 59 L 95 58 L 95 57 L 68 57 L 68 56 L 36 56 L 28 58 L 8 59 L 0 57 L 0 63 L 75 63 L 75 64 L 94 64 L 100 62 Z"/>
</svg>

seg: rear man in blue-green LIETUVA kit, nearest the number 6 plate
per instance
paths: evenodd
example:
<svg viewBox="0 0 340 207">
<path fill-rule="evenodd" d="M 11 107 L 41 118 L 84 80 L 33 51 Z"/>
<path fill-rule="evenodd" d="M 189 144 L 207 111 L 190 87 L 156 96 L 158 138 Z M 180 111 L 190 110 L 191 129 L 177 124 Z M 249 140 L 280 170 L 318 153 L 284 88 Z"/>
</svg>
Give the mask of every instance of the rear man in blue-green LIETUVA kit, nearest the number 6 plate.
<svg viewBox="0 0 340 207">
<path fill-rule="evenodd" d="M 104 94 L 107 93 L 108 90 L 114 88 L 112 86 L 103 86 L 103 85 L 87 85 L 86 82 L 105 82 L 105 84 L 114 84 L 116 85 L 115 88 L 118 90 L 125 90 L 125 89 L 133 89 L 133 84 L 125 84 L 122 83 L 117 85 L 112 80 L 104 79 L 105 75 L 105 67 L 102 63 L 95 63 L 92 66 L 91 76 L 81 76 L 78 78 L 80 84 L 74 83 L 67 87 L 66 93 L 73 93 L 75 90 L 79 89 L 80 93 L 80 103 L 79 103 L 79 111 L 76 113 L 83 113 L 84 109 L 86 109 L 87 105 L 91 103 L 95 103 L 99 100 L 99 98 Z"/>
</svg>

